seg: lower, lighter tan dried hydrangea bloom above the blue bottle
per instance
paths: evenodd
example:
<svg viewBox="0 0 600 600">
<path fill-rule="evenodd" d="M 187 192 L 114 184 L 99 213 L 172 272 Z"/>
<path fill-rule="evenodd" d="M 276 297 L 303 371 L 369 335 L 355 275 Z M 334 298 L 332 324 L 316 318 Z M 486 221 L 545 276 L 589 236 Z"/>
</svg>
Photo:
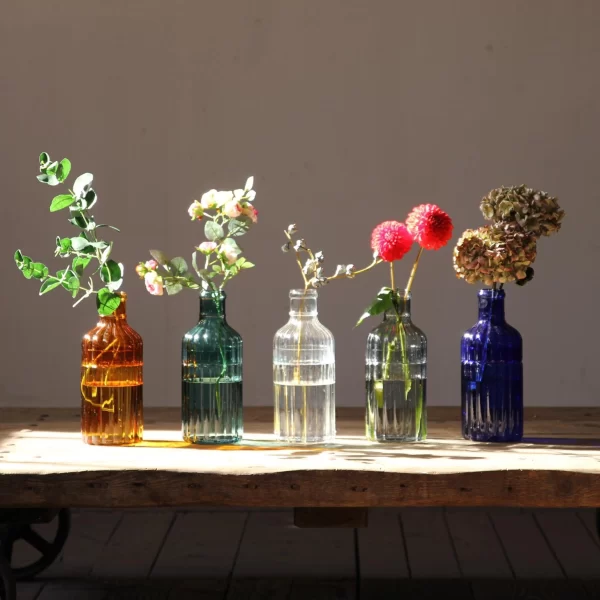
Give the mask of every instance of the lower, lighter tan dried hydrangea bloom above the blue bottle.
<svg viewBox="0 0 600 600">
<path fill-rule="evenodd" d="M 528 281 L 536 257 L 536 238 L 510 225 L 467 229 L 453 252 L 457 277 L 485 285 Z"/>
</svg>

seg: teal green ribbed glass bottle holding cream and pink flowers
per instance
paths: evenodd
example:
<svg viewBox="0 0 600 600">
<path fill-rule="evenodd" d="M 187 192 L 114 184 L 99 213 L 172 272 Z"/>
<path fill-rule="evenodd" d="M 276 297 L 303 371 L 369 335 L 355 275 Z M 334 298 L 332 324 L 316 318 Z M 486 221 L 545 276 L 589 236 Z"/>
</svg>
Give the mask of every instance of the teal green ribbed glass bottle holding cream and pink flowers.
<svg viewBox="0 0 600 600">
<path fill-rule="evenodd" d="M 200 292 L 200 319 L 183 336 L 183 439 L 233 444 L 243 433 L 242 337 L 229 326 L 223 291 Z"/>
</svg>

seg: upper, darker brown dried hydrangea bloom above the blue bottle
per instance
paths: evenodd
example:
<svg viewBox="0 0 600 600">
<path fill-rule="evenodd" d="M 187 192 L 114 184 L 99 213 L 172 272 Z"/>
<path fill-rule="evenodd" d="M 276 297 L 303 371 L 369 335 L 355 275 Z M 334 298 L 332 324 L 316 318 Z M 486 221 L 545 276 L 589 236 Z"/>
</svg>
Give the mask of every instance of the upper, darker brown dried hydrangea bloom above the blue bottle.
<svg viewBox="0 0 600 600">
<path fill-rule="evenodd" d="M 492 190 L 482 199 L 480 208 L 495 225 L 513 225 L 536 238 L 556 233 L 565 216 L 556 198 L 525 185 Z"/>
</svg>

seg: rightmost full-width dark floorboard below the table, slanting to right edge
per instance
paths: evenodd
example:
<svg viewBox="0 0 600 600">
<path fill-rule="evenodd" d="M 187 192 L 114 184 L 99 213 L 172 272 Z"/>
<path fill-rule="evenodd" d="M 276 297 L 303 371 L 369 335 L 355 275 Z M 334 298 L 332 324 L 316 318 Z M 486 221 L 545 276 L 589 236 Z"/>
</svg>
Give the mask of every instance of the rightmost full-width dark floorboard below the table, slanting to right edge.
<svg viewBox="0 0 600 600">
<path fill-rule="evenodd" d="M 535 511 L 534 516 L 570 579 L 600 577 L 600 548 L 574 511 Z"/>
</svg>

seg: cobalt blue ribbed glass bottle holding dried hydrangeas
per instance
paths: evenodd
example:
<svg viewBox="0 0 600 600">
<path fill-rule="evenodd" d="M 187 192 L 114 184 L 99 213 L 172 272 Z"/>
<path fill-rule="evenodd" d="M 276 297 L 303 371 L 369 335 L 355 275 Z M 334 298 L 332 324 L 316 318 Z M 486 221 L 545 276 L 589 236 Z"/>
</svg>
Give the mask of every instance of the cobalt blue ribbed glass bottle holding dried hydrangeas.
<svg viewBox="0 0 600 600">
<path fill-rule="evenodd" d="M 479 320 L 461 342 L 463 437 L 520 442 L 523 340 L 504 319 L 504 290 L 480 290 Z"/>
</svg>

